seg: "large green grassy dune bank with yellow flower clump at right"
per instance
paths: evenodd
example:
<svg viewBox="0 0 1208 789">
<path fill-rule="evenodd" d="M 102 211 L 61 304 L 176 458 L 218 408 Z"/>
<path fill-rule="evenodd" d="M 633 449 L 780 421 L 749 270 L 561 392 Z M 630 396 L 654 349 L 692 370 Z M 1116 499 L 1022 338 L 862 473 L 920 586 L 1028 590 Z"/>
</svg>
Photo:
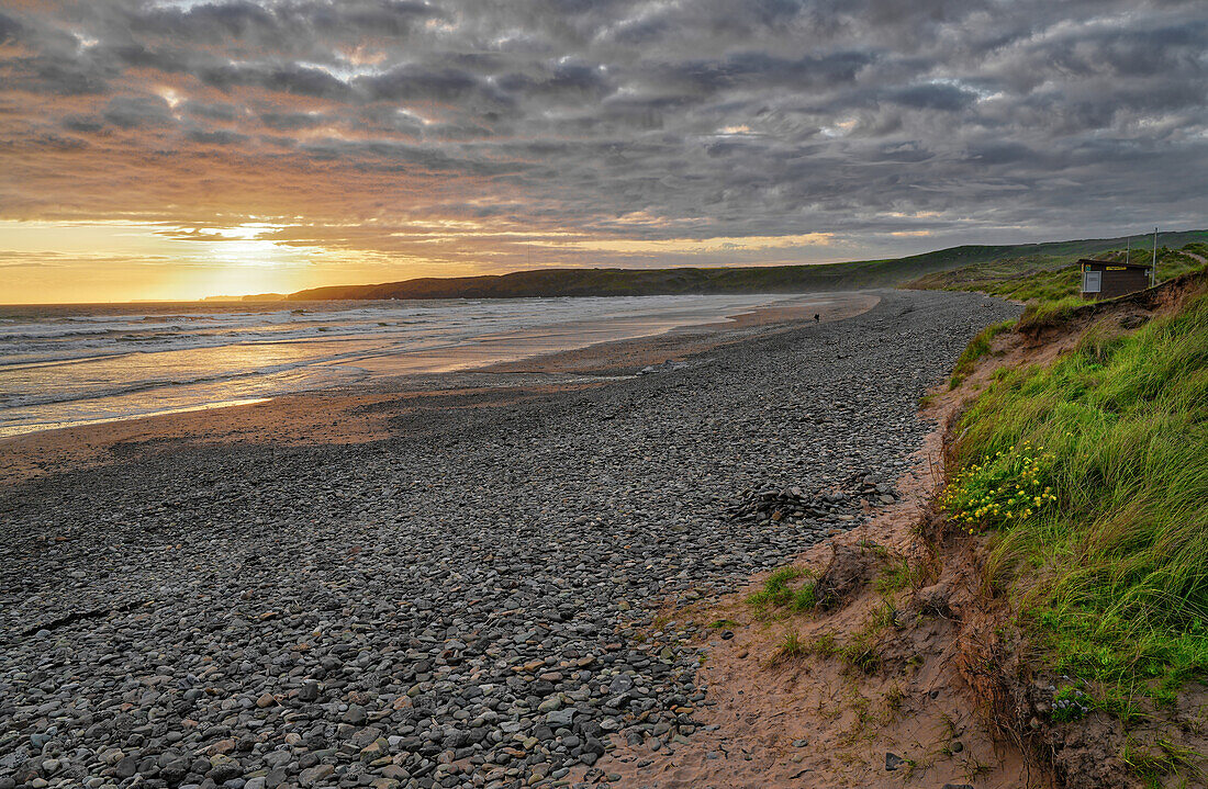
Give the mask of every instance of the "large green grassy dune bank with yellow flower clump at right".
<svg viewBox="0 0 1208 789">
<path fill-rule="evenodd" d="M 945 507 L 995 531 L 1052 666 L 1160 702 L 1208 676 L 1208 297 L 1006 372 L 960 428 Z"/>
</svg>

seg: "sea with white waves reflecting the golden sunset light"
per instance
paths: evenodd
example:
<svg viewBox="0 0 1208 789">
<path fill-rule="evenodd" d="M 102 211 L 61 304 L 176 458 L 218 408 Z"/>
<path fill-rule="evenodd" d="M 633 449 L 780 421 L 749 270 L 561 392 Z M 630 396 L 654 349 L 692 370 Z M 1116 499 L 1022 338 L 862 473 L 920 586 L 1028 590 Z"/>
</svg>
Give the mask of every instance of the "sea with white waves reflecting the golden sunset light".
<svg viewBox="0 0 1208 789">
<path fill-rule="evenodd" d="M 724 321 L 785 296 L 0 306 L 0 437 Z"/>
</svg>

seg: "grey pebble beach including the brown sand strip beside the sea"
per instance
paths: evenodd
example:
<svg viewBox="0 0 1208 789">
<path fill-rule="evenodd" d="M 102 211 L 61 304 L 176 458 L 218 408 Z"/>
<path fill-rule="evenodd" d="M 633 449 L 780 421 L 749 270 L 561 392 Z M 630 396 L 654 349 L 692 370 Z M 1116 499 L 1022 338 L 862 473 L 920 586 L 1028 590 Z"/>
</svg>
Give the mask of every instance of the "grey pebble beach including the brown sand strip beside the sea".
<svg viewBox="0 0 1208 789">
<path fill-rule="evenodd" d="M 726 785 L 614 759 L 726 736 L 668 612 L 900 501 L 919 396 L 1015 310 L 884 291 L 0 442 L 0 776 Z"/>
</svg>

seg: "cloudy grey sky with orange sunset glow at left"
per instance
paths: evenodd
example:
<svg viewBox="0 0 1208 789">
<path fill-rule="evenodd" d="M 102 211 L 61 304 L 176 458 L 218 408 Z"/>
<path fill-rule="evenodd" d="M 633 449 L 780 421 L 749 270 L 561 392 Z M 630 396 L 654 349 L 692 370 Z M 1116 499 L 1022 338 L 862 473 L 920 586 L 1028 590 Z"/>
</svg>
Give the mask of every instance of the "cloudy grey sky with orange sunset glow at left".
<svg viewBox="0 0 1208 789">
<path fill-rule="evenodd" d="M 0 303 L 1206 216 L 1203 0 L 0 0 Z"/>
</svg>

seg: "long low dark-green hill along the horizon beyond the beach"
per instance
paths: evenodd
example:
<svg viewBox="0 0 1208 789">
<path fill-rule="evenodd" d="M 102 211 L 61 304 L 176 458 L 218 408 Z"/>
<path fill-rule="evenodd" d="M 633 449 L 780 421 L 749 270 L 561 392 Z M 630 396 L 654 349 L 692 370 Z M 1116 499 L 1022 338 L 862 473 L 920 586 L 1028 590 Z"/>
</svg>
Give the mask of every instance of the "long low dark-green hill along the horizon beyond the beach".
<svg viewBox="0 0 1208 789">
<path fill-rule="evenodd" d="M 1144 247 L 1148 238 L 1134 236 Z M 1208 230 L 1161 233 L 1158 244 L 1181 246 L 1208 241 Z M 1079 257 L 1121 249 L 1126 238 L 954 246 L 879 261 L 817 265 L 767 265 L 667 269 L 539 269 L 501 275 L 423 277 L 379 285 L 333 285 L 291 293 L 289 300 L 533 298 L 556 296 L 669 296 L 686 293 L 777 293 L 894 287 L 911 280 L 970 265 L 1052 268 Z M 246 297 L 263 300 L 265 294 Z"/>
</svg>

